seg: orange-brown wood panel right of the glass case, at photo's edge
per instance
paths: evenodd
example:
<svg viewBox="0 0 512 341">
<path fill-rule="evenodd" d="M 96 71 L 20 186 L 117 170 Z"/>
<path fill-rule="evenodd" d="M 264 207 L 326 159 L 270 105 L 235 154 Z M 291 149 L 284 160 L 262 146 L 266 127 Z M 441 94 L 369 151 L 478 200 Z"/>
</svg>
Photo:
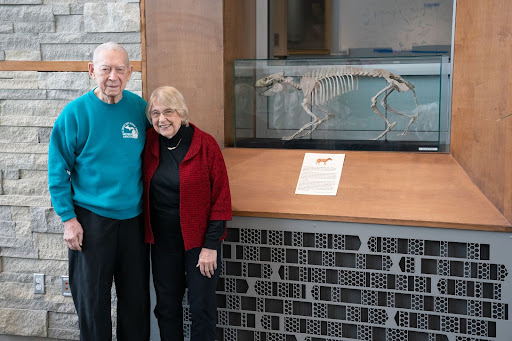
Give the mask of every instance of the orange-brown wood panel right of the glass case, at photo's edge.
<svg viewBox="0 0 512 341">
<path fill-rule="evenodd" d="M 512 1 L 457 2 L 451 153 L 512 221 Z"/>
</svg>

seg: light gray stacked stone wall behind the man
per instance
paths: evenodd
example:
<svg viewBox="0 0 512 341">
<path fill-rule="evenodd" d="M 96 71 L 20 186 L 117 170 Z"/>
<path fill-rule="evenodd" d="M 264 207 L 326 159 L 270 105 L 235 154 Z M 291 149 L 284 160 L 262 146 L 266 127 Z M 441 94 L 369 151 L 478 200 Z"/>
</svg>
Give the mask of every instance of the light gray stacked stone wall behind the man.
<svg viewBox="0 0 512 341">
<path fill-rule="evenodd" d="M 0 0 L 0 63 L 89 61 L 107 41 L 140 61 L 140 23 L 138 0 Z M 78 340 L 72 299 L 61 290 L 67 248 L 47 153 L 62 108 L 94 86 L 87 72 L 0 71 L 0 339 Z M 142 95 L 141 72 L 127 89 Z M 34 273 L 45 275 L 44 294 L 34 294 Z"/>
</svg>

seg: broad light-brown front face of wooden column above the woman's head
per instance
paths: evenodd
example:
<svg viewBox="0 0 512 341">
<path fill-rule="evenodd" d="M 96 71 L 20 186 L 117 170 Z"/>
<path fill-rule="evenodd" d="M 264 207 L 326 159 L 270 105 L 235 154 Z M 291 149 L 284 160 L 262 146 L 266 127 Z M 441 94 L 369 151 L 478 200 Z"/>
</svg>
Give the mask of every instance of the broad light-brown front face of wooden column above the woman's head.
<svg viewBox="0 0 512 341">
<path fill-rule="evenodd" d="M 191 122 L 224 145 L 222 0 L 145 1 L 147 91 L 176 87 Z"/>
</svg>

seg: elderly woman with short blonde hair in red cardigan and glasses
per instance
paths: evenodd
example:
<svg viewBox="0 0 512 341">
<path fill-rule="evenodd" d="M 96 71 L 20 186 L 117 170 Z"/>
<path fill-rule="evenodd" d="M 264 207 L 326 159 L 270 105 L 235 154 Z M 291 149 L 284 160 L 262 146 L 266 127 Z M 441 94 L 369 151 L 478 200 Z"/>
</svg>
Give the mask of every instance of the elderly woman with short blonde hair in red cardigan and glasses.
<svg viewBox="0 0 512 341">
<path fill-rule="evenodd" d="M 183 340 L 181 304 L 188 287 L 190 340 L 215 340 L 220 245 L 231 220 L 224 159 L 215 139 L 189 123 L 175 88 L 157 88 L 146 115 L 153 128 L 143 158 L 145 231 L 160 337 Z"/>
</svg>

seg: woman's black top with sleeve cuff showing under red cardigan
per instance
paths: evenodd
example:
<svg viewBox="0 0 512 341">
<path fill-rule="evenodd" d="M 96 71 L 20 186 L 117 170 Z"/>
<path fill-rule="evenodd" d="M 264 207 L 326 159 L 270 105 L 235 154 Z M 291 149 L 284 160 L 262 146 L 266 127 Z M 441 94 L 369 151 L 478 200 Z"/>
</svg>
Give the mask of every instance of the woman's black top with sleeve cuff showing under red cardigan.
<svg viewBox="0 0 512 341">
<path fill-rule="evenodd" d="M 151 217 L 179 215 L 180 209 L 180 163 L 187 155 L 194 135 L 194 128 L 182 125 L 176 135 L 168 139 L 160 135 L 160 162 L 151 178 L 149 202 Z M 160 220 L 160 219 L 158 219 Z M 175 226 L 174 228 L 179 228 Z M 203 247 L 217 249 L 224 234 L 225 221 L 208 222 Z"/>
</svg>

